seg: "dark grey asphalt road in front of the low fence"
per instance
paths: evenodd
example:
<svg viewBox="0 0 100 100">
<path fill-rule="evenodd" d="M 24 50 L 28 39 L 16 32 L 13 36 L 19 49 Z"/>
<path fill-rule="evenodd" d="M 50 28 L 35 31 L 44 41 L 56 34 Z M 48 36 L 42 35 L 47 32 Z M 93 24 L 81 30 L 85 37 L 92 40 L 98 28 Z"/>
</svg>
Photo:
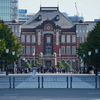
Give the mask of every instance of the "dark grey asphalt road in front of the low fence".
<svg viewBox="0 0 100 100">
<path fill-rule="evenodd" d="M 1 89 L 0 100 L 100 100 L 100 89 Z"/>
</svg>

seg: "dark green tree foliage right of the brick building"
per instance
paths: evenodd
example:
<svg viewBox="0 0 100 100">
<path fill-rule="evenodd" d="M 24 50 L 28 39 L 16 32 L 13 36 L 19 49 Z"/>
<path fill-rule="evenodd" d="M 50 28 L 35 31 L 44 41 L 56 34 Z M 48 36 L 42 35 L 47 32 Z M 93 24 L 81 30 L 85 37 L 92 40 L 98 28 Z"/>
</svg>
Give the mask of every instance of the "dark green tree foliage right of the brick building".
<svg viewBox="0 0 100 100">
<path fill-rule="evenodd" d="M 95 49 L 99 50 L 97 55 Z M 91 56 L 88 55 L 88 51 L 91 51 Z M 97 63 L 100 65 L 100 22 L 97 22 L 93 30 L 89 33 L 87 41 L 80 44 L 78 55 L 82 56 L 83 54 L 86 54 L 86 57 L 83 58 L 86 63 L 89 63 L 90 59 L 91 65 L 96 65 Z"/>
</svg>

